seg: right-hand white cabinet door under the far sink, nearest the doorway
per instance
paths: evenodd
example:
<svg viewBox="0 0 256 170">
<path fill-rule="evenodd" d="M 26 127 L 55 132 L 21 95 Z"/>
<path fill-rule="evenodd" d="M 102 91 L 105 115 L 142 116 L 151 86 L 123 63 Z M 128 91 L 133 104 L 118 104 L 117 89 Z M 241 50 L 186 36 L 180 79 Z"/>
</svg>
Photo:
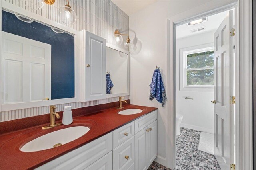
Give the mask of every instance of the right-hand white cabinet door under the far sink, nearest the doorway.
<svg viewBox="0 0 256 170">
<path fill-rule="evenodd" d="M 148 125 L 148 164 L 157 156 L 157 120 Z"/>
</svg>

